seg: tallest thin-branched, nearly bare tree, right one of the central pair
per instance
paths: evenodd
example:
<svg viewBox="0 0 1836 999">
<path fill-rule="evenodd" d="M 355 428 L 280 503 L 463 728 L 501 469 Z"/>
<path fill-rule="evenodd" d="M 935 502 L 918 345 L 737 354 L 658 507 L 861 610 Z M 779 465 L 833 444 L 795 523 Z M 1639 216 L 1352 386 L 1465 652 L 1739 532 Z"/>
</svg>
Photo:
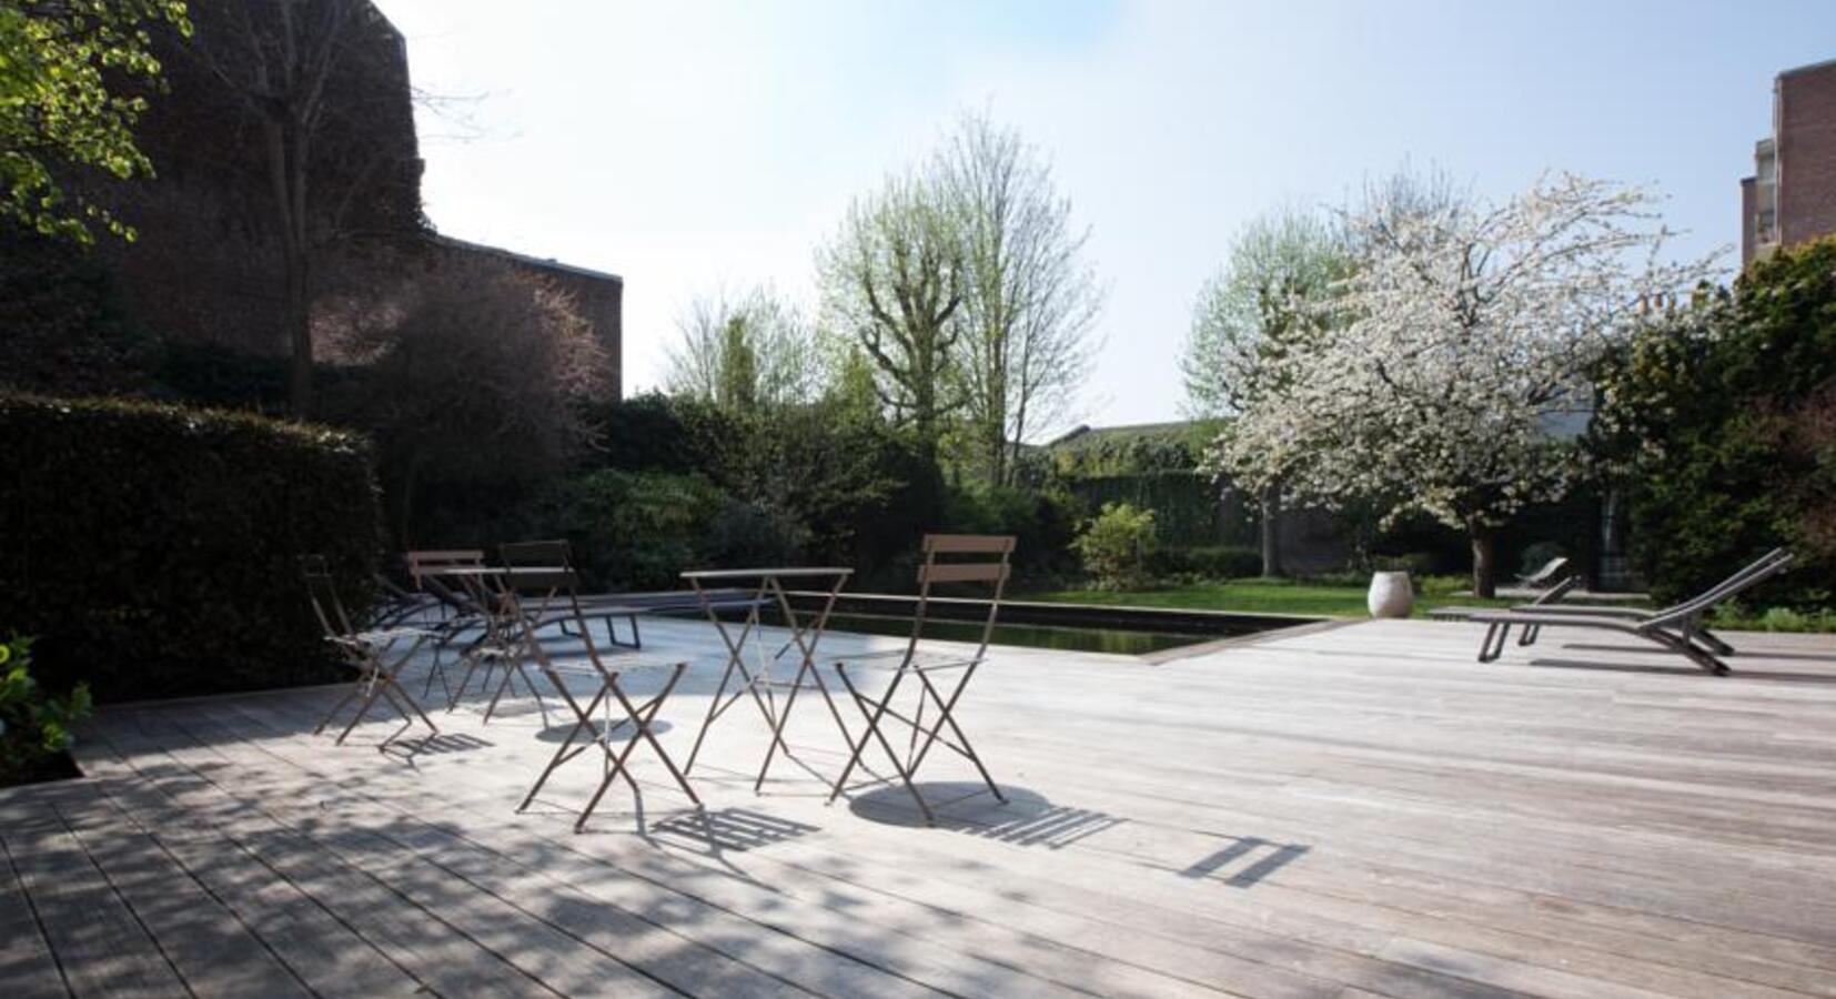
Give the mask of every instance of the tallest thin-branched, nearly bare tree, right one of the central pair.
<svg viewBox="0 0 1836 999">
<path fill-rule="evenodd" d="M 1089 231 L 1013 129 L 966 114 L 931 165 L 962 241 L 957 373 L 977 463 L 1010 485 L 1028 433 L 1059 422 L 1091 365 L 1102 288 Z"/>
</svg>

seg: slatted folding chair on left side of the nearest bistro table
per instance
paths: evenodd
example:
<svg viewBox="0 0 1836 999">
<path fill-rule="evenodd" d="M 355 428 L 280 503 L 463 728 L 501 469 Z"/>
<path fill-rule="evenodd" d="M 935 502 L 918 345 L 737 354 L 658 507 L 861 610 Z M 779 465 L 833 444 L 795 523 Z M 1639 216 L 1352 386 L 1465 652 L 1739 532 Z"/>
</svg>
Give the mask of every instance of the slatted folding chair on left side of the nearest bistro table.
<svg viewBox="0 0 1836 999">
<path fill-rule="evenodd" d="M 562 700 L 575 713 L 575 725 L 569 729 L 567 738 L 562 742 L 554 757 L 549 758 L 549 766 L 542 769 L 542 777 L 536 779 L 529 793 L 523 795 L 523 803 L 516 806 L 518 812 L 529 808 L 542 791 L 542 786 L 549 782 L 549 777 L 565 762 L 573 760 L 580 753 L 591 747 L 599 747 L 602 755 L 602 777 L 593 797 L 588 799 L 586 806 L 580 810 L 580 817 L 575 819 L 575 832 L 586 828 L 586 821 L 599 808 L 599 801 L 606 797 L 606 790 L 611 786 L 613 779 L 622 777 L 626 784 L 632 786 L 632 793 L 641 793 L 637 790 L 637 779 L 632 777 L 630 760 L 632 753 L 637 749 L 639 742 L 650 746 L 663 766 L 676 779 L 676 786 L 688 795 L 688 801 L 701 808 L 701 799 L 688 786 L 688 779 L 683 777 L 681 769 L 676 768 L 676 760 L 663 749 L 657 742 L 652 724 L 655 722 L 657 711 L 670 698 L 676 683 L 681 679 L 683 670 L 688 668 L 687 661 L 663 661 L 654 657 L 637 656 L 613 656 L 600 657 L 599 646 L 593 643 L 593 634 L 586 626 L 586 619 L 580 613 L 580 606 L 565 601 L 558 610 L 551 610 L 556 602 L 556 593 L 571 593 L 577 588 L 577 578 L 573 569 L 538 569 L 529 567 L 523 573 L 507 577 L 505 597 L 512 604 L 516 619 L 521 621 L 523 637 L 527 639 L 529 654 L 534 657 L 538 668 L 549 678 L 549 683 L 560 690 Z M 536 606 L 527 606 L 525 601 L 534 597 Z M 580 645 L 586 652 L 586 661 L 558 663 L 549 650 L 542 645 L 536 630 L 543 624 L 553 624 L 556 621 L 569 621 L 580 628 Z M 633 703 L 632 696 L 619 683 L 619 678 L 633 670 L 668 670 L 668 678 L 663 681 L 663 689 L 646 698 L 643 703 Z M 569 689 L 567 679 L 586 678 L 595 683 L 593 696 L 582 705 L 580 698 Z M 622 718 L 613 720 L 613 705 L 617 703 Z M 613 749 L 613 733 L 632 725 L 632 738 L 622 749 Z"/>
</svg>

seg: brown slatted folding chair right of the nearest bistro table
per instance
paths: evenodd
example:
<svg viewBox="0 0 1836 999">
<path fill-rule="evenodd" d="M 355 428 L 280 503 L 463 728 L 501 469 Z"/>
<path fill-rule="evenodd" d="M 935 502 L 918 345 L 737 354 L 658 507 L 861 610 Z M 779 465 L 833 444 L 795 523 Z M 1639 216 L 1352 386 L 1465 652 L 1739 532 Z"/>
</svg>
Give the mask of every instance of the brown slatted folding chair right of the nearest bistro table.
<svg viewBox="0 0 1836 999">
<path fill-rule="evenodd" d="M 962 700 L 962 692 L 969 687 L 969 679 L 975 670 L 988 657 L 988 639 L 995 630 L 995 615 L 1001 610 L 1001 591 L 1008 582 L 1008 560 L 1013 555 L 1013 538 L 1008 536 L 977 536 L 977 534 L 925 534 L 924 540 L 924 566 L 918 567 L 918 608 L 912 613 L 912 632 L 911 641 L 905 643 L 903 650 L 887 654 L 876 663 L 874 656 L 857 656 L 846 661 L 835 663 L 835 674 L 841 678 L 843 687 L 848 690 L 848 698 L 861 709 L 861 716 L 867 720 L 867 729 L 859 738 L 854 740 L 848 751 L 848 762 L 841 769 L 841 777 L 835 779 L 834 790 L 830 790 L 828 801 L 835 801 L 843 790 L 848 786 L 848 775 L 854 773 L 856 766 L 867 768 L 861 755 L 867 751 L 867 744 L 878 744 L 885 755 L 887 762 L 892 764 L 894 773 L 898 773 L 900 782 L 911 791 L 912 801 L 918 803 L 918 812 L 924 814 L 925 823 L 936 825 L 936 815 L 931 812 L 931 804 L 918 793 L 918 784 L 914 782 L 918 768 L 924 766 L 925 757 L 929 757 L 931 747 L 942 744 L 944 747 L 955 751 L 975 764 L 975 771 L 982 775 L 982 782 L 988 784 L 990 793 L 995 801 L 1006 803 L 1006 795 L 995 786 L 993 777 L 988 775 L 988 768 L 982 766 L 982 758 L 969 746 L 969 738 L 962 733 L 962 725 L 957 724 L 955 711 L 957 703 Z M 951 556 L 944 560 L 940 556 Z M 960 558 L 968 556 L 968 558 Z M 999 556 L 999 558 L 995 558 Z M 925 652 L 920 650 L 924 641 L 924 623 L 925 612 L 931 604 L 931 588 L 936 584 L 982 584 L 988 586 L 991 595 L 988 599 L 988 617 L 982 621 L 982 641 L 975 646 L 975 652 Z M 856 670 L 883 670 L 890 672 L 892 679 L 887 681 L 885 690 L 878 696 L 868 694 L 856 681 Z M 955 674 L 955 683 L 949 676 Z M 901 709 L 896 700 L 900 689 L 911 690 L 916 683 L 916 696 L 912 698 L 914 707 Z M 927 722 L 925 713 L 936 711 L 936 718 Z M 889 735 L 889 725 L 903 725 L 905 751 L 894 747 L 892 735 Z M 949 735 L 944 735 L 946 729 Z M 955 736 L 955 738 L 951 738 Z M 879 782 L 879 780 L 876 780 Z"/>
</svg>

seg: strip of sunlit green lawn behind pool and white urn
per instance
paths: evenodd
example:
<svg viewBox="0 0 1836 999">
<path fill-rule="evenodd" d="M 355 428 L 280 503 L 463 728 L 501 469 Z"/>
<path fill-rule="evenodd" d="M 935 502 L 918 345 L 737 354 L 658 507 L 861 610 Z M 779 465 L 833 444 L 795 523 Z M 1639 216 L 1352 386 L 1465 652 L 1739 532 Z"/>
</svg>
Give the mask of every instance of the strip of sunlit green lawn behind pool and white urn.
<svg viewBox="0 0 1836 999">
<path fill-rule="evenodd" d="M 1511 606 L 1522 599 L 1480 601 L 1476 597 L 1454 597 L 1456 589 L 1467 589 L 1465 577 L 1428 577 L 1416 582 L 1416 617 L 1438 606 Z M 1170 589 L 1056 589 L 1023 593 L 1021 601 L 1052 601 L 1063 604 L 1111 604 L 1135 608 L 1179 608 L 1179 610 L 1234 610 L 1243 613 L 1300 613 L 1307 617 L 1364 617 L 1362 584 L 1351 582 L 1305 582 L 1287 578 L 1234 578 L 1226 582 L 1206 582 L 1197 586 L 1177 586 Z"/>
</svg>

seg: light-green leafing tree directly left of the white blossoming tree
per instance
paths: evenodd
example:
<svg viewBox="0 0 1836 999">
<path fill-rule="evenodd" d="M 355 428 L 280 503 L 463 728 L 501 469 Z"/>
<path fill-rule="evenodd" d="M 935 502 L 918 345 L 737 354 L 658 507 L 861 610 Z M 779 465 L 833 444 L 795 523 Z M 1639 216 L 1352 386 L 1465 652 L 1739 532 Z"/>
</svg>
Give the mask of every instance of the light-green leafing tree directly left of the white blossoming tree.
<svg viewBox="0 0 1836 999">
<path fill-rule="evenodd" d="M 1283 358 L 1327 334 L 1322 305 L 1348 272 L 1338 233 L 1313 211 L 1278 209 L 1237 233 L 1230 257 L 1199 292 L 1181 356 L 1186 408 L 1201 419 L 1236 419 L 1282 408 L 1293 387 Z M 1225 424 L 1225 433 L 1230 433 Z M 1307 450 L 1214 448 L 1206 463 L 1261 507 L 1263 575 L 1282 567 L 1282 481 Z"/>
</svg>

